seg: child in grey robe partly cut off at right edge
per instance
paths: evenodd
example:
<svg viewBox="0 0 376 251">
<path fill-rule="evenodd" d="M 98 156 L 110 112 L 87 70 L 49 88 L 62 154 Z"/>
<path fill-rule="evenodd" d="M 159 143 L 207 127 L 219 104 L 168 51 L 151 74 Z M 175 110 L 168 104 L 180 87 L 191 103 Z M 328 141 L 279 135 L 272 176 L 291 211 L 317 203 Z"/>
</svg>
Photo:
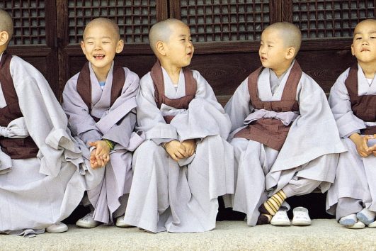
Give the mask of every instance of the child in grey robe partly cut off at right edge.
<svg viewBox="0 0 376 251">
<path fill-rule="evenodd" d="M 358 60 L 331 88 L 329 104 L 348 152 L 339 155 L 329 213 L 347 228 L 376 228 L 376 20 L 358 23 L 351 52 Z"/>
</svg>

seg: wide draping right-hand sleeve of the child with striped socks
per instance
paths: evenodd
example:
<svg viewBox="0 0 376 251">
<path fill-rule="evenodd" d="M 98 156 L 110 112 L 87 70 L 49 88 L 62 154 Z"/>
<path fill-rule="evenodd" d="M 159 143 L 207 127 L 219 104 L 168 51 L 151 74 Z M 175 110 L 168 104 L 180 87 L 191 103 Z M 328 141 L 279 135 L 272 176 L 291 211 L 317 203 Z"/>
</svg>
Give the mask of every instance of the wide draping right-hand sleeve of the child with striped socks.
<svg viewBox="0 0 376 251">
<path fill-rule="evenodd" d="M 297 87 L 300 116 L 292 123 L 270 170 L 298 167 L 322 155 L 346 152 L 324 91 L 307 74 Z"/>
</svg>

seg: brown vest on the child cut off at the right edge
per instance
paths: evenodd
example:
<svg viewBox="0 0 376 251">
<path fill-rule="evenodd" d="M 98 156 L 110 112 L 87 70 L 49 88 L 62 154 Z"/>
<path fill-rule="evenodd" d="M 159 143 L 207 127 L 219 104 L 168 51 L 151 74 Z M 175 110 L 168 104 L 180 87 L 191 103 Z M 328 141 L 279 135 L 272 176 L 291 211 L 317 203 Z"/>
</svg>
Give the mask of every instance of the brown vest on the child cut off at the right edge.
<svg viewBox="0 0 376 251">
<path fill-rule="evenodd" d="M 376 95 L 358 96 L 358 64 L 355 63 L 348 72 L 345 85 L 350 96 L 351 109 L 355 116 L 365 122 L 376 121 Z M 362 134 L 375 134 L 376 125 L 360 131 Z"/>
</svg>

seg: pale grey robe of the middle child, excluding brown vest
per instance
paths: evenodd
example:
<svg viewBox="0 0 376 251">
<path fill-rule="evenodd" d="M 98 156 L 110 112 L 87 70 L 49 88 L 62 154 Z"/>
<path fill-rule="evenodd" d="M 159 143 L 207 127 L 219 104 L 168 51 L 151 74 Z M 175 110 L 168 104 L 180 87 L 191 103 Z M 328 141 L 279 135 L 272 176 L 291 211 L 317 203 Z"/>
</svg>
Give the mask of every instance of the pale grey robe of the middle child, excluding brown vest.
<svg viewBox="0 0 376 251">
<path fill-rule="evenodd" d="M 186 95 L 181 71 L 175 89 L 164 69 L 165 95 Z M 210 85 L 193 71 L 198 87 L 188 109 L 154 101 L 150 73 L 137 94 L 137 129 L 145 132 L 133 157 L 134 178 L 125 222 L 151 232 L 203 232 L 215 228 L 217 197 L 232 194 L 233 149 L 227 143 L 231 124 Z M 163 116 L 175 115 L 170 124 Z M 161 146 L 171 140 L 196 140 L 195 155 L 176 162 Z"/>
</svg>

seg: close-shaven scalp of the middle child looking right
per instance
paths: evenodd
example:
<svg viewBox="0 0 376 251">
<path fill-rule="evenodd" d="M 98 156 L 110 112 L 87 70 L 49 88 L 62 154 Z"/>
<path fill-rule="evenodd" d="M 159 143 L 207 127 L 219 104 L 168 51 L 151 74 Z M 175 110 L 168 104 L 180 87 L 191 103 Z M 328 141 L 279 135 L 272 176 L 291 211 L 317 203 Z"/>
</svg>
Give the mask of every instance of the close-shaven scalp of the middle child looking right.
<svg viewBox="0 0 376 251">
<path fill-rule="evenodd" d="M 171 26 L 176 24 L 183 24 L 186 26 L 186 23 L 183 23 L 175 18 L 166 19 L 165 21 L 158 22 L 152 26 L 149 31 L 149 44 L 153 51 L 156 50 L 155 45 L 158 41 L 162 41 L 164 43 L 169 42 L 172 33 Z"/>
</svg>

